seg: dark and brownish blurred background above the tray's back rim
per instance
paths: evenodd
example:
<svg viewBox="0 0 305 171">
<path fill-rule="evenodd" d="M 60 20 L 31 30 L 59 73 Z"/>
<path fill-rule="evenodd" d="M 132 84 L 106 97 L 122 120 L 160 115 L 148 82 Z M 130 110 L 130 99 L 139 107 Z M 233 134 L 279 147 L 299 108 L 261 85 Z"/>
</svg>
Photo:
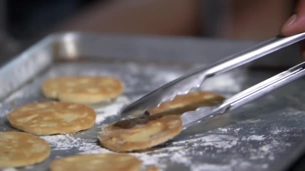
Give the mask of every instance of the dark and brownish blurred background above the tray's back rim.
<svg viewBox="0 0 305 171">
<path fill-rule="evenodd" d="M 52 32 L 260 41 L 279 33 L 295 0 L 0 0 L 4 60 Z"/>
</svg>

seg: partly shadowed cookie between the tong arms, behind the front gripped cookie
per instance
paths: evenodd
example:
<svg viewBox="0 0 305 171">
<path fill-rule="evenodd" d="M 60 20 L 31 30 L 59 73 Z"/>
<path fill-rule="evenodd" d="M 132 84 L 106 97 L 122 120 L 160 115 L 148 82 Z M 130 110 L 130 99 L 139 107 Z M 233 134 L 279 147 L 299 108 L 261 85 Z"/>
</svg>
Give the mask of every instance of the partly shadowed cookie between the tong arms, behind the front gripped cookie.
<svg viewBox="0 0 305 171">
<path fill-rule="evenodd" d="M 148 109 L 149 115 L 167 113 L 183 114 L 201 106 L 212 106 L 221 103 L 225 98 L 217 93 L 208 91 L 189 92 L 178 95 L 172 101 L 163 102 L 160 106 Z"/>
</svg>

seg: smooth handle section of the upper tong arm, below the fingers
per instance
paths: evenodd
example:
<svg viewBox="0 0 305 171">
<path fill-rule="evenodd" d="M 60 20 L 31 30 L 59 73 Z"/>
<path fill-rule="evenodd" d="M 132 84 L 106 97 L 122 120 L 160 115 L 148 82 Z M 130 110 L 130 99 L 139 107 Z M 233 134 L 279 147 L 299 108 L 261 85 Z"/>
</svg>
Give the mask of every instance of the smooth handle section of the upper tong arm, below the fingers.
<svg viewBox="0 0 305 171">
<path fill-rule="evenodd" d="M 230 55 L 219 62 L 216 62 L 209 67 L 203 67 L 198 72 L 204 72 L 206 77 L 211 77 L 219 73 L 223 73 L 235 67 L 241 66 L 245 63 L 258 59 L 271 52 L 279 50 L 283 47 L 291 45 L 305 38 L 305 32 L 283 37 L 277 35 L 266 41 L 263 41 L 253 47 L 250 47 L 242 52 Z M 207 69 L 208 68 L 208 69 Z"/>
</svg>

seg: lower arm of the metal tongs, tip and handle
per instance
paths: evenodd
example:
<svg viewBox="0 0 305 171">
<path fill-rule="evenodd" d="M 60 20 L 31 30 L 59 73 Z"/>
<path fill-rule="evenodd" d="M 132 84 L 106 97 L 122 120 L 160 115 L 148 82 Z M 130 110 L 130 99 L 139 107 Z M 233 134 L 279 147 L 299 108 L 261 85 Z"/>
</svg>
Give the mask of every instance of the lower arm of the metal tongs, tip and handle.
<svg viewBox="0 0 305 171">
<path fill-rule="evenodd" d="M 305 75 L 305 62 L 297 64 L 286 71 L 278 73 L 258 84 L 255 84 L 223 101 L 223 103 L 211 106 L 201 107 L 196 111 L 189 111 L 183 113 L 181 119 L 183 121 L 183 127 L 187 127 L 195 124 L 198 121 L 203 120 L 205 117 L 212 117 L 218 114 L 224 114 L 232 111 L 248 102 L 251 102 L 267 93 L 274 91 L 275 89 L 284 86 L 302 76 Z"/>
</svg>

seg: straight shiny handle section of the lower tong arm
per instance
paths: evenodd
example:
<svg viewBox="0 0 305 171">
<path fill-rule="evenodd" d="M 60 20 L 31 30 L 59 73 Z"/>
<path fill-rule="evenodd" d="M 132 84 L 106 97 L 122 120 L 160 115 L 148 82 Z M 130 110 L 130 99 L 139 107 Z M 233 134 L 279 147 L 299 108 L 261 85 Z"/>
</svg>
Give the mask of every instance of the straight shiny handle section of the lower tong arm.
<svg viewBox="0 0 305 171">
<path fill-rule="evenodd" d="M 305 62 L 302 62 L 229 97 L 218 109 L 221 109 L 221 112 L 233 110 L 304 75 Z"/>
</svg>

